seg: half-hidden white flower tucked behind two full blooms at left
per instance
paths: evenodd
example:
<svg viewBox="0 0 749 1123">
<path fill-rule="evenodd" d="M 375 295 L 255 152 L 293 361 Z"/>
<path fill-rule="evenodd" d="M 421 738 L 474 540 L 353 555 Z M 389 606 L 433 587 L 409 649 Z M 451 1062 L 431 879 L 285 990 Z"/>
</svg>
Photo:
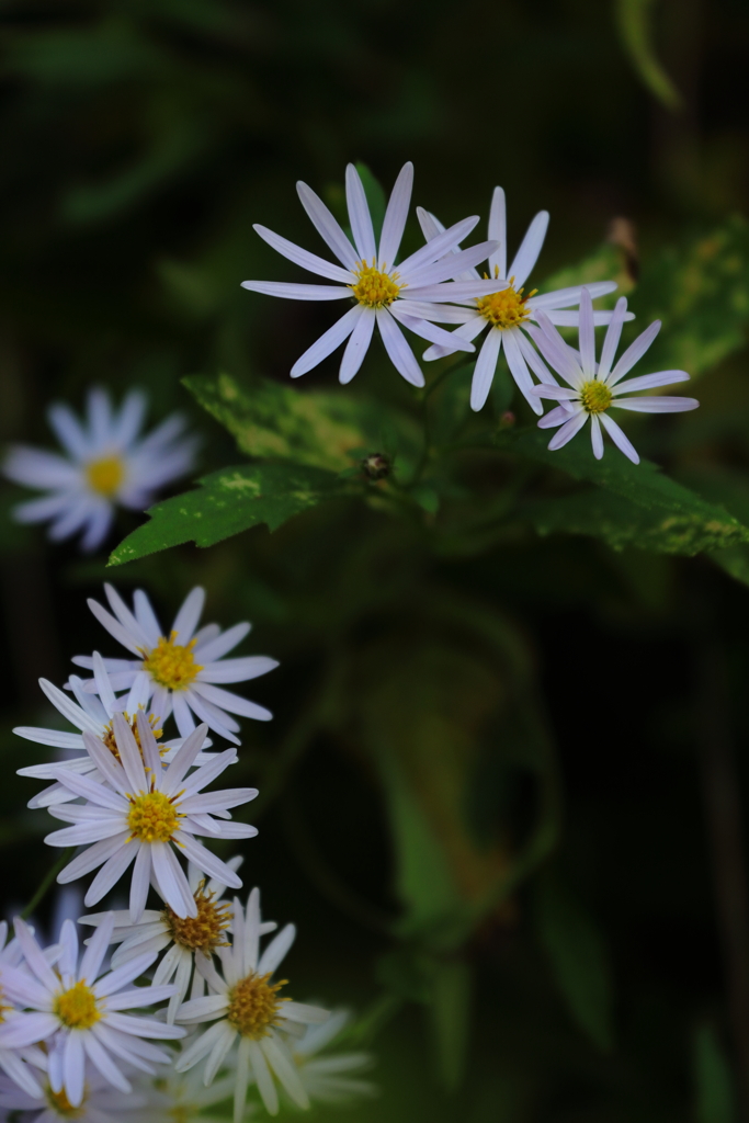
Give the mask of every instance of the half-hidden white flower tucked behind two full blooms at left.
<svg viewBox="0 0 749 1123">
<path fill-rule="evenodd" d="M 13 733 L 26 738 L 27 741 L 36 741 L 37 745 L 49 745 L 57 749 L 65 749 L 66 751 L 75 750 L 82 752 L 83 756 L 76 757 L 74 760 L 57 760 L 48 765 L 31 765 L 28 768 L 19 768 L 19 776 L 31 776 L 34 779 L 52 779 L 53 775 L 56 775 L 63 768 L 80 773 L 83 776 L 92 773 L 93 779 L 103 778 L 85 751 L 82 731 L 88 730 L 94 737 L 98 737 L 100 741 L 103 741 L 111 752 L 116 752 L 117 747 L 112 733 L 113 715 L 125 712 L 125 716 L 129 720 L 130 728 L 135 732 L 135 716 L 139 710 L 147 705 L 148 690 L 144 688 L 146 684 L 141 679 L 137 679 L 127 699 L 117 699 L 107 668 L 104 667 L 104 661 L 98 651 L 93 652 L 93 674 L 99 697 L 84 690 L 84 684 L 77 675 L 71 675 L 68 686 L 77 699 L 77 705 L 46 678 L 39 679 L 39 686 L 55 709 L 71 724 L 80 729 L 81 732 L 66 733 L 58 729 L 37 729 L 34 725 L 18 725 L 13 729 Z M 162 730 L 157 727 L 161 719 L 153 710 L 146 716 L 154 730 L 154 736 L 159 738 Z M 183 740 L 184 738 L 179 737 L 173 741 L 164 741 L 159 745 L 158 751 L 165 760 L 171 760 Z M 211 742 L 207 740 L 204 743 L 210 745 Z M 195 764 L 205 764 L 212 759 L 212 756 L 213 754 L 210 752 L 200 752 L 195 758 Z M 75 794 L 68 791 L 63 784 L 54 783 L 49 787 L 45 787 L 38 795 L 35 795 L 33 800 L 29 800 L 28 806 L 31 809 L 48 807 L 54 803 L 70 803 L 71 800 L 75 798 Z"/>
</svg>

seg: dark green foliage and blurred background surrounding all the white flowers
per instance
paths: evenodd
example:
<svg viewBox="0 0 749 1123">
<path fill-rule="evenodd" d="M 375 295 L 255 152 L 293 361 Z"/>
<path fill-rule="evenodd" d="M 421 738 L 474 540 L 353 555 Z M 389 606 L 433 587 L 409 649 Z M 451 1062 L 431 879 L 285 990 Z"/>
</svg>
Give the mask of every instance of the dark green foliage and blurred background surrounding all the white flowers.
<svg viewBox="0 0 749 1123">
<path fill-rule="evenodd" d="M 164 618 L 201 583 L 209 619 L 253 620 L 245 649 L 281 659 L 253 695 L 275 721 L 243 729 L 247 866 L 300 924 L 296 993 L 360 1013 L 383 1090 L 357 1120 L 728 1123 L 694 714 L 709 638 L 743 796 L 745 7 L 27 0 L 0 20 L 2 435 L 47 442 L 44 408 L 91 382 L 204 435 L 199 486 L 121 518 L 128 565 L 3 515 L 8 909 L 48 868 L 13 776 L 43 750 L 9 732 L 54 720 L 36 678 L 106 643 L 102 579 Z M 541 291 L 618 280 L 625 341 L 663 319 L 648 369 L 700 375 L 702 408 L 631 417 L 650 463 L 548 454 L 502 365 L 478 416 L 471 362 L 424 393 L 377 348 L 349 387 L 334 359 L 287 381 L 329 310 L 239 289 L 295 279 L 252 223 L 317 252 L 294 181 L 345 221 L 346 162 L 382 213 L 407 158 L 446 221 L 485 218 L 501 183 L 511 249 L 548 207 Z M 152 553 L 193 541 L 219 545 Z"/>
</svg>

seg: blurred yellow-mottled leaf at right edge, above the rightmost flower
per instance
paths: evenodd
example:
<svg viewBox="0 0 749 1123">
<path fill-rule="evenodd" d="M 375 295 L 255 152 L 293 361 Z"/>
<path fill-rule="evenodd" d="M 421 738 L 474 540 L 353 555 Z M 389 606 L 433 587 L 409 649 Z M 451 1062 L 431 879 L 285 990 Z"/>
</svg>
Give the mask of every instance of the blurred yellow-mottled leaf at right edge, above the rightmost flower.
<svg viewBox="0 0 749 1123">
<path fill-rule="evenodd" d="M 747 343 L 749 222 L 732 218 L 643 263 L 631 300 L 641 328 L 663 328 L 641 364 L 649 371 L 712 369 Z"/>
</svg>

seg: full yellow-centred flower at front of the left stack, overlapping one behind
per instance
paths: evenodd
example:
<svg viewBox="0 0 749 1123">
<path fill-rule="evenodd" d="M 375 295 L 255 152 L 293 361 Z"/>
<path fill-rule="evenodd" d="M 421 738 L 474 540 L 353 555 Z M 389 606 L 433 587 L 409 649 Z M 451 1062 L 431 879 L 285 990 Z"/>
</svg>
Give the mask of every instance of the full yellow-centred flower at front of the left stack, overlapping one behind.
<svg viewBox="0 0 749 1123">
<path fill-rule="evenodd" d="M 77 880 L 101 866 L 84 897 L 88 907 L 97 904 L 135 861 L 130 883 L 130 920 L 137 923 L 146 907 L 148 887 L 154 884 L 159 896 L 177 916 L 197 916 L 198 907 L 172 847 L 193 861 L 210 877 L 238 888 L 241 880 L 194 838 L 247 839 L 257 829 L 247 823 L 227 822 L 228 809 L 254 800 L 253 787 L 203 792 L 237 759 L 236 749 L 217 752 L 209 764 L 200 765 L 185 779 L 205 737 L 199 725 L 171 761 L 162 760 L 158 747 L 143 711 L 137 715 L 140 749 L 130 725 L 121 714 L 112 719 L 119 760 L 89 732 L 83 733 L 86 751 L 106 779 L 97 784 L 89 776 L 57 769 L 56 779 L 88 802 L 64 803 L 49 807 L 49 814 L 74 823 L 54 831 L 45 839 L 49 846 L 83 846 L 86 850 L 65 866 L 57 880 Z M 143 756 L 141 756 L 143 752 Z M 220 818 L 214 819 L 213 815 Z"/>
</svg>

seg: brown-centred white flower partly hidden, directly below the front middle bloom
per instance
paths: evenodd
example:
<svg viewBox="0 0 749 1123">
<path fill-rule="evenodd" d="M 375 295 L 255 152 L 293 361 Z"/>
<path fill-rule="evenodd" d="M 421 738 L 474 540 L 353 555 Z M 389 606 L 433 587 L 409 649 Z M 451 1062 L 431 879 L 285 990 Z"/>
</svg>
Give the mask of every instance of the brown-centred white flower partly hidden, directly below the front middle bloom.
<svg viewBox="0 0 749 1123">
<path fill-rule="evenodd" d="M 243 860 L 240 857 L 231 858 L 227 866 L 236 873 Z M 174 1021 L 191 980 L 193 984 L 191 997 L 198 998 L 203 994 L 203 977 L 193 973 L 194 958 L 211 956 L 217 948 L 226 947 L 226 933 L 231 931 L 231 903 L 221 901 L 226 885 L 216 878 L 205 884 L 205 878 L 192 862 L 188 866 L 188 882 L 198 909 L 195 917 L 182 919 L 168 905 L 161 912 L 147 909 L 137 924 L 130 923 L 128 912 L 115 913 L 112 943 L 119 943 L 120 947 L 112 956 L 112 967 L 127 964 L 144 951 L 158 955 L 168 949 L 154 975 L 156 986 L 172 980 L 176 986 L 175 993 L 170 998 L 167 1022 Z M 102 923 L 106 915 L 95 913 L 81 916 L 79 924 L 92 924 L 95 928 Z M 267 921 L 261 925 L 261 935 L 274 932 L 275 929 L 275 922 Z"/>
</svg>

